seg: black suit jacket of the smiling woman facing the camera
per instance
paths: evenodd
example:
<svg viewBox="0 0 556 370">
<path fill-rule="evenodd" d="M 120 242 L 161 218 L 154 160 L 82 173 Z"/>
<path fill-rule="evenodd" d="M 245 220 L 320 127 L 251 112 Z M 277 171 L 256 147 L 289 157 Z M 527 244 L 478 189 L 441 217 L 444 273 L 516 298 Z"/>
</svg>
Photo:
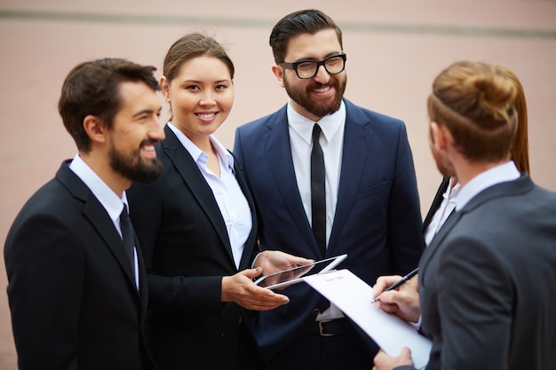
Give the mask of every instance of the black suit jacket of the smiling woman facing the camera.
<svg viewBox="0 0 556 370">
<path fill-rule="evenodd" d="M 128 191 L 131 220 L 139 237 L 149 287 L 149 343 L 161 369 L 234 369 L 240 317 L 250 311 L 221 302 L 221 279 L 238 272 L 226 224 L 197 164 L 168 128 L 156 147 L 164 172 L 150 185 Z M 239 171 L 236 178 L 249 202 L 253 228 L 239 270 L 250 268 L 256 246 L 253 201 Z M 254 339 L 252 343 L 256 346 Z"/>
</svg>

